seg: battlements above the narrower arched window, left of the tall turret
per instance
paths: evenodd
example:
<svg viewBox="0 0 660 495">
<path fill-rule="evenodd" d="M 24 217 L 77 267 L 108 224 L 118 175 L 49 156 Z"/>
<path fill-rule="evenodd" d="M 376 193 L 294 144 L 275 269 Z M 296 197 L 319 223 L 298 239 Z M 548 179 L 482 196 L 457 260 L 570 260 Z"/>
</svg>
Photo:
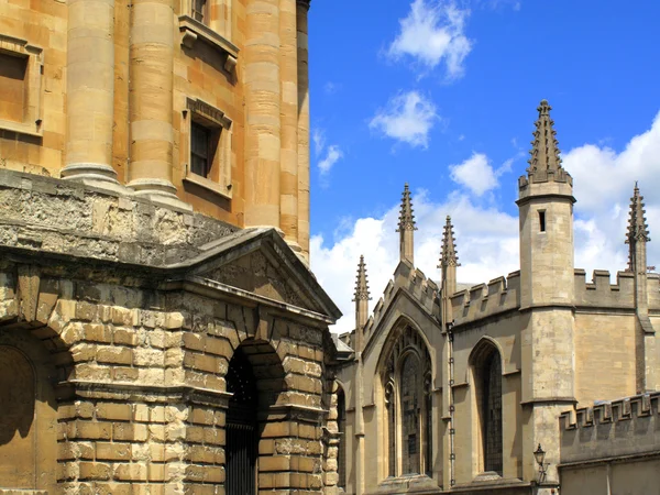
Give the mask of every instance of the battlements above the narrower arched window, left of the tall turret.
<svg viewBox="0 0 660 495">
<path fill-rule="evenodd" d="M 454 326 L 515 309 L 520 306 L 520 272 L 460 290 L 450 299 Z"/>
</svg>

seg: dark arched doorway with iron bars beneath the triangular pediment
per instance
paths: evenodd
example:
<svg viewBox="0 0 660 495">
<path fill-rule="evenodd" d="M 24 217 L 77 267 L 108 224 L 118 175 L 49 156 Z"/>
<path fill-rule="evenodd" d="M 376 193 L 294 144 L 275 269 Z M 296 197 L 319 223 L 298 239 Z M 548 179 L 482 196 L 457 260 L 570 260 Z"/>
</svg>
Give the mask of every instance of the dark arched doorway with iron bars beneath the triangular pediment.
<svg viewBox="0 0 660 495">
<path fill-rule="evenodd" d="M 227 413 L 227 494 L 256 495 L 258 395 L 252 366 L 241 348 L 229 363 L 226 380 L 227 392 L 233 394 Z"/>
</svg>

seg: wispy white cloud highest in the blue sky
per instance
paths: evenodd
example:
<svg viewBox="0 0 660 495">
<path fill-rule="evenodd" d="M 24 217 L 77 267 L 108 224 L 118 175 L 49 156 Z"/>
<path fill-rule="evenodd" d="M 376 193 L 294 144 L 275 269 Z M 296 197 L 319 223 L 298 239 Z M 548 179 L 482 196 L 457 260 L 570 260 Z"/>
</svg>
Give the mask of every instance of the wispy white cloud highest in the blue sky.
<svg viewBox="0 0 660 495">
<path fill-rule="evenodd" d="M 399 20 L 400 32 L 387 54 L 393 59 L 410 56 L 424 70 L 444 63 L 447 75 L 459 77 L 472 50 L 464 34 L 469 15 L 470 10 L 460 9 L 453 1 L 415 0 L 408 15 Z"/>
</svg>

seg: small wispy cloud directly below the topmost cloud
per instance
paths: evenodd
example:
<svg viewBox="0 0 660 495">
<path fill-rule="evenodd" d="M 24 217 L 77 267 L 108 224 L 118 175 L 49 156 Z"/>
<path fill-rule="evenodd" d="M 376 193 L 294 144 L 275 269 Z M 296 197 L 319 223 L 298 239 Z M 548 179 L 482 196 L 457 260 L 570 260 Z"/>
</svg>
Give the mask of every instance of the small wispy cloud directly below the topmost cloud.
<svg viewBox="0 0 660 495">
<path fill-rule="evenodd" d="M 429 131 L 439 120 L 436 106 L 417 91 L 399 94 L 378 110 L 369 127 L 411 146 L 428 147 Z"/>
</svg>

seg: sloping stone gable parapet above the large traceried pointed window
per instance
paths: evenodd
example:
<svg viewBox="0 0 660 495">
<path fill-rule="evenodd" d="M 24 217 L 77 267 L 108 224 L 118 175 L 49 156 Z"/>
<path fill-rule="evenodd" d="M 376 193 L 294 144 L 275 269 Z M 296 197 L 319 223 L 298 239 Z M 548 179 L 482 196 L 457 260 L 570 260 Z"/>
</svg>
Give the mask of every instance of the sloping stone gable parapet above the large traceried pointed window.
<svg viewBox="0 0 660 495">
<path fill-rule="evenodd" d="M 385 308 L 389 306 L 396 295 L 396 288 L 403 287 L 425 308 L 430 315 L 437 314 L 438 284 L 415 268 L 407 261 L 403 261 L 394 272 L 394 278 L 385 286 L 383 296 L 374 306 L 372 316 L 364 326 L 364 334 L 369 336 L 377 327 L 384 316 Z"/>
</svg>

